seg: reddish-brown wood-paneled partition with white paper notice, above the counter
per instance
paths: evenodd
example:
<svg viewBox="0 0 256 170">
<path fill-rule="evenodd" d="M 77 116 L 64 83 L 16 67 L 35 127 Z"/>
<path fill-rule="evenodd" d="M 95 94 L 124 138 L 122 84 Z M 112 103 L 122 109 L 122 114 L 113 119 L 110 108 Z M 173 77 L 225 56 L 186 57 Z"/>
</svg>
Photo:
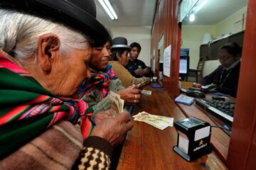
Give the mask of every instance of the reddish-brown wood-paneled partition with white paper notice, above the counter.
<svg viewBox="0 0 256 170">
<path fill-rule="evenodd" d="M 178 67 L 181 42 L 181 26 L 178 25 L 178 4 L 180 0 L 161 0 L 156 3 L 156 13 L 151 36 L 151 54 L 155 60 L 154 72 L 159 75 L 158 43 L 164 35 L 164 48 L 171 45 L 170 77 L 163 76 L 163 86 L 171 98 L 178 96 Z M 151 63 L 151 66 L 153 63 Z"/>
</svg>

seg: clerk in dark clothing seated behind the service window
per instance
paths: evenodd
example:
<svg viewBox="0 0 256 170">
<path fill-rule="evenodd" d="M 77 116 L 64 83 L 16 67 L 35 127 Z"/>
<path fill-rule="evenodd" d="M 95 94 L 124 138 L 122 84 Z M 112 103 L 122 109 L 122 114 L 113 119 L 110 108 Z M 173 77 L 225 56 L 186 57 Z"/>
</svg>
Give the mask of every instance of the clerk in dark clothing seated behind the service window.
<svg viewBox="0 0 256 170">
<path fill-rule="evenodd" d="M 217 91 L 236 97 L 240 71 L 240 56 L 242 48 L 236 42 L 227 43 L 220 47 L 218 60 L 220 66 L 208 76 L 203 77 L 201 84 L 217 85 Z"/>
</svg>

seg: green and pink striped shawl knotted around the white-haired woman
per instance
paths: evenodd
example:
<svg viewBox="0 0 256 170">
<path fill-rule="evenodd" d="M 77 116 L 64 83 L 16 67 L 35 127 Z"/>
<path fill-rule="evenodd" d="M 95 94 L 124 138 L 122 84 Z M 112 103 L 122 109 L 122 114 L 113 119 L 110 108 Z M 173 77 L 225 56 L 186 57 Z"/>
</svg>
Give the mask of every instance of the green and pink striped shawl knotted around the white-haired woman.
<svg viewBox="0 0 256 170">
<path fill-rule="evenodd" d="M 0 159 L 58 120 L 80 121 L 85 139 L 93 128 L 87 107 L 84 101 L 56 98 L 0 50 Z"/>
</svg>

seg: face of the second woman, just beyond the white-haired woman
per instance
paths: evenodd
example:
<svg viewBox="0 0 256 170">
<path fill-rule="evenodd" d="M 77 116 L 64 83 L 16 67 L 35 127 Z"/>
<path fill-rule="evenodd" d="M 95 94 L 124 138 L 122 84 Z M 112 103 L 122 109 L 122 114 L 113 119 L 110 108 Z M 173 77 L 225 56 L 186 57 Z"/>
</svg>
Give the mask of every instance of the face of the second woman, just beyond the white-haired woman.
<svg viewBox="0 0 256 170">
<path fill-rule="evenodd" d="M 92 58 L 89 62 L 90 67 L 96 70 L 104 70 L 110 60 L 110 42 L 107 42 L 102 47 L 92 48 Z"/>
</svg>

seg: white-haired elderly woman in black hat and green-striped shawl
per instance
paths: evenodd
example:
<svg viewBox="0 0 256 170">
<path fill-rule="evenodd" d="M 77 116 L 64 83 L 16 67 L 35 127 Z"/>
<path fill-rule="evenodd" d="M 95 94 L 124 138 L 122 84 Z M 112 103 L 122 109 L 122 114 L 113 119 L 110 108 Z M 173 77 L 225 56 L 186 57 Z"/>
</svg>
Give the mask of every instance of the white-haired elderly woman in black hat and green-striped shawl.
<svg viewBox="0 0 256 170">
<path fill-rule="evenodd" d="M 0 169 L 71 169 L 76 159 L 74 169 L 108 169 L 132 125 L 122 113 L 93 128 L 87 103 L 75 99 L 90 78 L 90 44 L 108 37 L 94 1 L 0 6 Z"/>
</svg>

